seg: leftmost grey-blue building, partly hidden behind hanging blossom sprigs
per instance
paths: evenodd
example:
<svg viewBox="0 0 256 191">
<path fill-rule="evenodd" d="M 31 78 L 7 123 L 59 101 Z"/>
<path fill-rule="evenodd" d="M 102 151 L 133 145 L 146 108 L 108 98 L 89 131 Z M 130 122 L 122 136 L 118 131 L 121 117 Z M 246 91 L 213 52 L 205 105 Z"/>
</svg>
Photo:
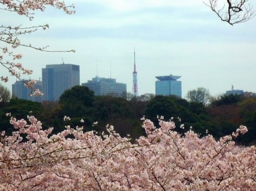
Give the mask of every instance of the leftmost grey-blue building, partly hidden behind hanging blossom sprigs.
<svg viewBox="0 0 256 191">
<path fill-rule="evenodd" d="M 22 81 L 17 80 L 12 85 L 12 88 L 11 88 L 12 97 L 17 97 L 18 99 L 41 102 L 42 96 L 31 96 L 31 89 L 25 86 L 25 83 L 28 81 L 30 80 L 28 79 L 23 79 Z M 42 91 L 42 88 L 43 88 L 42 81 L 37 80 L 36 83 L 34 84 L 34 89 L 38 89 Z"/>
</svg>

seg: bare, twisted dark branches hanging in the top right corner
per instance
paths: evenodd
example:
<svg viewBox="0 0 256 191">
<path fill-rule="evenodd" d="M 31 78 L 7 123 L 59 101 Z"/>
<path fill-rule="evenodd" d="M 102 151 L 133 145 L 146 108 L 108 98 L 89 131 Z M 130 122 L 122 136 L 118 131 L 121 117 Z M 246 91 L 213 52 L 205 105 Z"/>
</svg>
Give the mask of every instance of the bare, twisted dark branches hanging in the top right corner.
<svg viewBox="0 0 256 191">
<path fill-rule="evenodd" d="M 232 26 L 243 23 L 255 16 L 250 0 L 208 0 L 205 3 L 218 17 Z"/>
</svg>

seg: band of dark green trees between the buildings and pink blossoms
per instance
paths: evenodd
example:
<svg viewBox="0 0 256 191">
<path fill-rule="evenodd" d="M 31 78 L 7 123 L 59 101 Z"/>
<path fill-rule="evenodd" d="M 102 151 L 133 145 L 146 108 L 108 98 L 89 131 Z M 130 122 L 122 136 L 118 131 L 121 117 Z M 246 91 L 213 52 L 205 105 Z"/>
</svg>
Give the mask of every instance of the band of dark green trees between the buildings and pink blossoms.
<svg viewBox="0 0 256 191">
<path fill-rule="evenodd" d="M 21 99 L 0 102 L 0 130 L 5 130 L 7 134 L 14 130 L 6 116 L 9 112 L 17 119 L 34 115 L 43 123 L 43 128 L 54 127 L 53 133 L 64 130 L 65 125 L 74 128 L 84 126 L 85 131 L 102 131 L 109 124 L 114 125 L 122 136 L 130 134 L 134 140 L 144 135 L 141 127 L 143 116 L 154 121 L 156 126 L 156 116 L 172 119 L 176 124 L 175 130 L 181 134 L 192 128 L 201 136 L 208 131 L 216 138 L 236 131 L 240 125 L 246 125 L 249 132 L 238 137 L 237 143 L 252 145 L 256 142 L 256 96 L 248 92 L 244 95 L 223 95 L 204 105 L 176 96 L 152 94 L 131 97 L 129 100 L 94 96 L 88 87 L 75 86 L 61 95 L 59 103 L 36 103 Z M 64 121 L 64 116 L 69 116 L 71 121 Z M 98 123 L 94 124 L 96 121 Z"/>
</svg>

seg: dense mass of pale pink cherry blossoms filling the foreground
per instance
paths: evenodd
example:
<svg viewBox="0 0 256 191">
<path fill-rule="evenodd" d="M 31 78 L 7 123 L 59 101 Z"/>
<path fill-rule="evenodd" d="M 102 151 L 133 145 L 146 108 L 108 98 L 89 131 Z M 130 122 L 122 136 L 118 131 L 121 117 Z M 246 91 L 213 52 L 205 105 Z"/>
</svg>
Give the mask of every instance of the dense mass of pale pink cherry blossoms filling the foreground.
<svg viewBox="0 0 256 191">
<path fill-rule="evenodd" d="M 146 137 L 133 144 L 111 125 L 101 134 L 69 125 L 51 134 L 52 128 L 43 130 L 34 116 L 10 122 L 16 131 L 9 137 L 2 132 L 0 139 L 0 190 L 256 188 L 256 148 L 236 146 L 233 140 L 246 133 L 245 126 L 216 141 L 192 129 L 180 135 L 174 122 L 160 117 L 160 128 L 144 120 Z"/>
</svg>

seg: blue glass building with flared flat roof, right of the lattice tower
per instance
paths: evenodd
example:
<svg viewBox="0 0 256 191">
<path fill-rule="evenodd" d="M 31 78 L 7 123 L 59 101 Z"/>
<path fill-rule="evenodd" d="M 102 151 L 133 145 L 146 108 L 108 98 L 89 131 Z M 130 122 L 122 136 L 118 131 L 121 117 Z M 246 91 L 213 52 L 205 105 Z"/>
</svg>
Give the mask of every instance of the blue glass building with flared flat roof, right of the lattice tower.
<svg viewBox="0 0 256 191">
<path fill-rule="evenodd" d="M 180 76 L 166 75 L 156 77 L 155 95 L 176 95 L 181 97 L 181 81 L 178 81 Z"/>
</svg>

